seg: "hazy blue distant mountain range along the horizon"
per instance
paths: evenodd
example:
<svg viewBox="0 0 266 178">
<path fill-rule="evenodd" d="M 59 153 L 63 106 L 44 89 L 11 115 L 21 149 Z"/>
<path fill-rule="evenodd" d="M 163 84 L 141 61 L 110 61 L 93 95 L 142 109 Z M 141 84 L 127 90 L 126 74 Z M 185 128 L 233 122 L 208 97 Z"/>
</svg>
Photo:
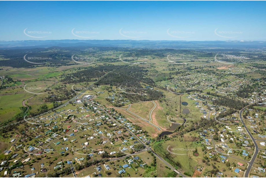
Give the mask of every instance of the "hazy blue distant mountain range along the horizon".
<svg viewBox="0 0 266 178">
<path fill-rule="evenodd" d="M 150 41 L 150 40 L 25 40 L 0 41 L 1 49 L 58 47 L 119 47 L 119 48 L 266 48 L 266 41 Z"/>
</svg>

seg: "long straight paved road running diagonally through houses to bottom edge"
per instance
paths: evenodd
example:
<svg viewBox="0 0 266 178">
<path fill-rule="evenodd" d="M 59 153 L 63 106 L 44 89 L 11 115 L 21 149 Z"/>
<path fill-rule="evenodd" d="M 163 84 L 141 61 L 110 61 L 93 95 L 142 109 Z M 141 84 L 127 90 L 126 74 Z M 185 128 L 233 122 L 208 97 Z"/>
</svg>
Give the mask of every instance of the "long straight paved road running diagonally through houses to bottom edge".
<svg viewBox="0 0 266 178">
<path fill-rule="evenodd" d="M 122 126 L 119 122 L 117 122 L 117 120 L 115 120 L 111 115 L 109 115 L 109 113 L 107 113 L 104 109 L 98 107 L 97 105 L 94 105 L 93 103 L 91 103 L 89 100 L 87 99 L 80 99 L 80 100 L 84 100 L 87 101 L 88 103 L 90 103 L 91 105 L 93 105 L 94 107 L 97 107 L 98 109 L 102 110 L 109 118 L 111 118 L 114 122 L 117 123 L 117 125 Z M 167 161 L 165 161 L 163 158 L 161 158 L 161 156 L 159 156 L 158 154 L 156 154 L 152 149 L 150 149 L 150 147 L 148 147 L 141 139 L 139 139 L 133 132 L 131 132 L 129 129 L 124 128 L 125 130 L 127 130 L 129 133 L 131 133 L 131 135 L 135 136 L 135 138 L 139 141 L 139 143 L 141 143 L 142 145 L 144 145 L 146 147 L 146 149 L 150 150 L 157 158 L 159 158 L 161 161 L 163 161 L 168 167 L 170 167 L 175 173 L 186 177 L 185 175 L 183 175 L 182 173 L 180 173 L 179 171 L 176 170 L 176 168 L 174 168 L 171 164 L 169 164 Z"/>
</svg>

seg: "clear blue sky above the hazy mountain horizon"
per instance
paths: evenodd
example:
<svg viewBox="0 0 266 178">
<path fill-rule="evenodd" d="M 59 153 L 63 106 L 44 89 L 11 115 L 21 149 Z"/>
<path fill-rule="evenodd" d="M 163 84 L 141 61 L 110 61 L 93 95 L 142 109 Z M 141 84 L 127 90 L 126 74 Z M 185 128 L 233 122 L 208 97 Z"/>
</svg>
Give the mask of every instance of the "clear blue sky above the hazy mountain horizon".
<svg viewBox="0 0 266 178">
<path fill-rule="evenodd" d="M 266 41 L 265 1 L 0 1 L 0 7 L 1 41 Z"/>
</svg>

